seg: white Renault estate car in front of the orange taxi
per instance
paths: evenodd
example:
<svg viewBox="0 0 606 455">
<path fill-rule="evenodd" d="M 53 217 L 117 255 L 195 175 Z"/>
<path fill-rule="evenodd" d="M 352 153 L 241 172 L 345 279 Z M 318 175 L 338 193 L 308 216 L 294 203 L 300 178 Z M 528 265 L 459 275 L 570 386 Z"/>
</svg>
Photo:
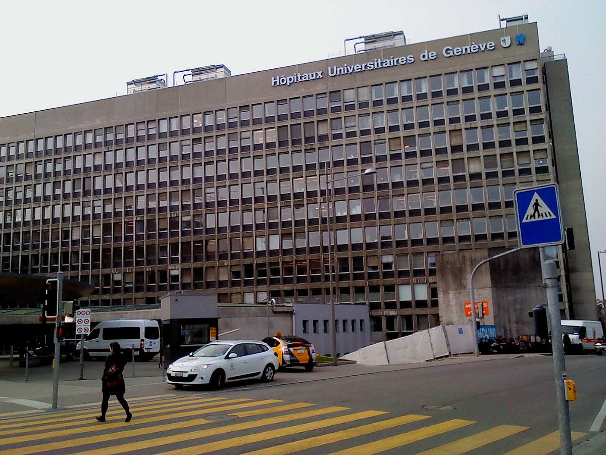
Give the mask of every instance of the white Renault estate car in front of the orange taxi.
<svg viewBox="0 0 606 455">
<path fill-rule="evenodd" d="M 219 389 L 226 381 L 261 378 L 270 382 L 276 369 L 278 354 L 264 342 L 220 340 L 168 365 L 166 382 L 176 389 L 199 384 Z"/>
</svg>

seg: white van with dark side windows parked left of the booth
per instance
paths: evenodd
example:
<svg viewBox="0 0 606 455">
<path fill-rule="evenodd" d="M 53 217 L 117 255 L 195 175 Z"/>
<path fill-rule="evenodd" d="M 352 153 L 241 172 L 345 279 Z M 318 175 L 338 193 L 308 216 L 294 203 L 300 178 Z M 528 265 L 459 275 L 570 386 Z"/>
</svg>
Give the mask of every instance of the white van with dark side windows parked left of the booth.
<svg viewBox="0 0 606 455">
<path fill-rule="evenodd" d="M 120 343 L 127 356 L 135 347 L 135 356 L 151 359 L 160 352 L 160 326 L 151 319 L 122 319 L 103 321 L 84 339 L 84 356 L 98 357 L 110 354 L 110 343 Z M 80 349 L 78 343 L 76 349 Z"/>
</svg>

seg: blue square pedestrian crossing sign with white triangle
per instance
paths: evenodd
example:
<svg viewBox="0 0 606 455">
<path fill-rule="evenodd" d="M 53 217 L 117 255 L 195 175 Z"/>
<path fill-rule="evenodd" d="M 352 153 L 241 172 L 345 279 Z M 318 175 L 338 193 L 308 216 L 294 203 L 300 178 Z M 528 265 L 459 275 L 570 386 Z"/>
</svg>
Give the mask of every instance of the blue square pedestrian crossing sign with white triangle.
<svg viewBox="0 0 606 455">
<path fill-rule="evenodd" d="M 516 189 L 513 198 L 519 246 L 530 248 L 564 243 L 557 184 Z"/>
</svg>

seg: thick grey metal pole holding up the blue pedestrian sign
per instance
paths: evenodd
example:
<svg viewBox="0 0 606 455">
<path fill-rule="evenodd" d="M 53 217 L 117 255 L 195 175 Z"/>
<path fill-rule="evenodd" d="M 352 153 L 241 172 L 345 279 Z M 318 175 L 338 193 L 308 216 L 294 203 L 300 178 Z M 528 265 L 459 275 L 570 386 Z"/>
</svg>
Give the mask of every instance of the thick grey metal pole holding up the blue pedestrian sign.
<svg viewBox="0 0 606 455">
<path fill-rule="evenodd" d="M 541 249 L 541 256 L 545 257 L 545 247 L 542 246 Z M 556 380 L 556 397 L 558 399 L 560 450 L 562 454 L 571 455 L 570 409 L 568 409 L 568 402 L 564 392 L 566 363 L 564 360 L 564 346 L 562 345 L 562 323 L 558 301 L 558 269 L 554 261 L 548 260 L 542 263 L 541 271 L 545 288 L 547 288 L 547 306 L 551 319 L 551 349 L 553 350 L 553 374 Z"/>
</svg>

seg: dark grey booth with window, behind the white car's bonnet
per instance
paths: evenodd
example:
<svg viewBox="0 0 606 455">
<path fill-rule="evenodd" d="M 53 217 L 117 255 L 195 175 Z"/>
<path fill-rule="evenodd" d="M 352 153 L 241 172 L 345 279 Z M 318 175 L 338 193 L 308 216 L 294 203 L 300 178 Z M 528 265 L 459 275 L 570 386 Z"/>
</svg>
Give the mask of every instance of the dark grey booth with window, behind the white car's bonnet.
<svg viewBox="0 0 606 455">
<path fill-rule="evenodd" d="M 217 303 L 217 294 L 207 292 L 170 292 L 160 298 L 165 366 L 217 339 Z"/>
</svg>

